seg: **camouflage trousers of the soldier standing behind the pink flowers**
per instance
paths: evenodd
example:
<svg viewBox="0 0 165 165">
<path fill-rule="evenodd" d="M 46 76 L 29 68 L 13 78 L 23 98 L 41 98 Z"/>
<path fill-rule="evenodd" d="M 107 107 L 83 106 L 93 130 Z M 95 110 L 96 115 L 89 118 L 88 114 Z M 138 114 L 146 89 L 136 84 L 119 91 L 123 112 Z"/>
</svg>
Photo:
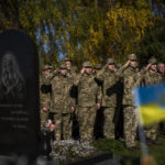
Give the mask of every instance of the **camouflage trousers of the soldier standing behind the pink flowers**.
<svg viewBox="0 0 165 165">
<path fill-rule="evenodd" d="M 70 113 L 53 113 L 53 119 L 54 123 L 61 121 L 61 124 L 55 129 L 55 140 L 62 140 L 62 135 L 64 140 L 72 139 L 73 121 Z"/>
</svg>

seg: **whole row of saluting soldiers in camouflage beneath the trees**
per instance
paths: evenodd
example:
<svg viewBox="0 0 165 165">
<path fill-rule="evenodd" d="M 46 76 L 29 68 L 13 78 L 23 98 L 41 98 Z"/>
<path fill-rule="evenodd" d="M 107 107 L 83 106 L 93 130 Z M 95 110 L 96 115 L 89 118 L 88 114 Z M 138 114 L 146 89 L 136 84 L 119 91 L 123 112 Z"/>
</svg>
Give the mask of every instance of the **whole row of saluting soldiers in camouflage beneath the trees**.
<svg viewBox="0 0 165 165">
<path fill-rule="evenodd" d="M 142 69 L 135 54 L 130 54 L 121 67 L 117 67 L 113 58 L 108 58 L 103 67 L 97 65 L 95 69 L 90 62 L 85 62 L 80 73 L 65 57 L 58 69 L 52 70 L 48 65 L 43 69 L 40 80 L 41 127 L 51 118 L 53 123 L 58 123 L 55 140 L 62 140 L 62 135 L 68 140 L 72 139 L 73 117 L 76 116 L 80 142 L 91 142 L 97 119 L 98 123 L 103 123 L 103 135 L 108 139 L 116 139 L 116 128 L 123 127 L 125 146 L 135 150 L 138 120 L 132 89 L 163 82 L 164 78 L 165 66 L 163 63 L 157 65 L 155 57 L 151 57 Z M 97 117 L 97 111 L 103 113 L 103 122 L 100 113 Z M 158 123 L 144 129 L 147 142 L 156 143 L 157 131 Z"/>
</svg>

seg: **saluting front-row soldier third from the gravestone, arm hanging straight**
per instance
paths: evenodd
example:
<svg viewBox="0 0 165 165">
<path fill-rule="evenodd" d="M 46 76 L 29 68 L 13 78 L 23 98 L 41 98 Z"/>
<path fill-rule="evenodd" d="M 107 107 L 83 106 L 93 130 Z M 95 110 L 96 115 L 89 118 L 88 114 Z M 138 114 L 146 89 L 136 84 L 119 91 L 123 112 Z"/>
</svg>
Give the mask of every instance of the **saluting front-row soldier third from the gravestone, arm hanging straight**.
<svg viewBox="0 0 165 165">
<path fill-rule="evenodd" d="M 100 109 L 101 92 L 91 70 L 90 62 L 85 62 L 82 70 L 75 79 L 78 87 L 77 116 L 79 121 L 80 141 L 94 140 L 94 124 L 97 109 Z"/>
</svg>

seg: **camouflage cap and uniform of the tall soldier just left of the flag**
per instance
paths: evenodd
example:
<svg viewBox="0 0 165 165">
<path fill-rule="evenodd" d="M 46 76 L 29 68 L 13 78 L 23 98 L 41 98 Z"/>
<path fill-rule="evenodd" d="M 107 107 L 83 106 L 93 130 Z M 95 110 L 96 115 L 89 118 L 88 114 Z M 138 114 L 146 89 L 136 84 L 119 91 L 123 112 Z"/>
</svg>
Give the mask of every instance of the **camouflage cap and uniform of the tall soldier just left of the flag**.
<svg viewBox="0 0 165 165">
<path fill-rule="evenodd" d="M 130 61 L 136 61 L 135 54 L 129 55 Z M 136 113 L 133 102 L 132 89 L 135 86 L 140 86 L 141 82 L 141 73 L 131 66 L 121 67 L 118 70 L 120 77 L 123 78 L 123 118 L 124 118 L 124 140 L 127 147 L 135 146 L 136 138 Z"/>
</svg>

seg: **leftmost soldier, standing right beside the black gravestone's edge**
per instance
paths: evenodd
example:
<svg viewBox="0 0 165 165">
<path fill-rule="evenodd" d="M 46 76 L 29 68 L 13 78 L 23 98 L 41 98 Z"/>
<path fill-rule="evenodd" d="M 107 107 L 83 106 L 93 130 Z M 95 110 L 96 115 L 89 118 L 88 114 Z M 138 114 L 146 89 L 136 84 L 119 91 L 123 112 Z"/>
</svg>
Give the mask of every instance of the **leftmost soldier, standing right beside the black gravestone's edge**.
<svg viewBox="0 0 165 165">
<path fill-rule="evenodd" d="M 41 129 L 43 129 L 43 123 L 48 118 L 48 110 L 51 108 L 50 69 L 50 66 L 45 65 L 40 78 Z"/>
</svg>

